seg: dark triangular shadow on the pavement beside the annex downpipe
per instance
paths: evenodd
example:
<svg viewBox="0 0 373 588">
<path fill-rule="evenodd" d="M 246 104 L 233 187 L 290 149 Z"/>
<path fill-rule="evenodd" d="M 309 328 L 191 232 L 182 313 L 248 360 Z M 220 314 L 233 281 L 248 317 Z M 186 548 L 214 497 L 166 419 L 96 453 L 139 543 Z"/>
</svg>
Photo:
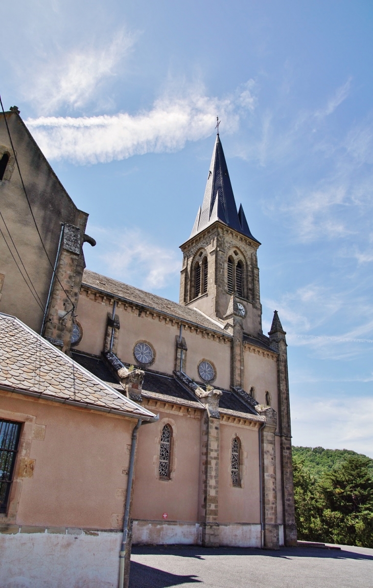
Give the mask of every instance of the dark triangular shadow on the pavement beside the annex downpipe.
<svg viewBox="0 0 373 588">
<path fill-rule="evenodd" d="M 166 588 L 167 586 L 200 582 L 201 580 L 198 580 L 197 576 L 177 576 L 177 574 L 162 572 L 156 567 L 131 562 L 129 588 L 135 588 L 135 586 L 136 588 Z"/>
</svg>

